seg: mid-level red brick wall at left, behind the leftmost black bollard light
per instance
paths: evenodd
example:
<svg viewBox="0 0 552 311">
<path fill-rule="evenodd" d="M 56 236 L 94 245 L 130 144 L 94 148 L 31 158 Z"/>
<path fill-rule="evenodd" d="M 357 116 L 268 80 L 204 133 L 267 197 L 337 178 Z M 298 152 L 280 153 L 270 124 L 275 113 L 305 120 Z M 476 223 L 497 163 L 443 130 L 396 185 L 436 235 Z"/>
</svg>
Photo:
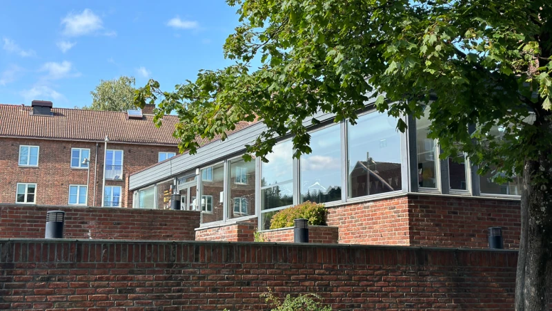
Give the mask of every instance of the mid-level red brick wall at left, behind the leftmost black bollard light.
<svg viewBox="0 0 552 311">
<path fill-rule="evenodd" d="M 65 238 L 193 241 L 199 227 L 199 211 L 0 205 L 0 238 L 44 238 L 49 210 L 66 212 Z"/>
</svg>

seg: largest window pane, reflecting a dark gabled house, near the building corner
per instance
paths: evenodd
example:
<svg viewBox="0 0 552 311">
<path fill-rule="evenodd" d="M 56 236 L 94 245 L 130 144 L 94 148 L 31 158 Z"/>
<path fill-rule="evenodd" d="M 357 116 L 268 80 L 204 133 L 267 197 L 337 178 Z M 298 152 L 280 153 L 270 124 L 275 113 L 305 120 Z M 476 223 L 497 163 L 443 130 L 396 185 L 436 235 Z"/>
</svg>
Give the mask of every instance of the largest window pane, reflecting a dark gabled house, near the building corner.
<svg viewBox="0 0 552 311">
<path fill-rule="evenodd" d="M 348 125 L 348 198 L 402 189 L 397 119 L 368 113 Z"/>
</svg>

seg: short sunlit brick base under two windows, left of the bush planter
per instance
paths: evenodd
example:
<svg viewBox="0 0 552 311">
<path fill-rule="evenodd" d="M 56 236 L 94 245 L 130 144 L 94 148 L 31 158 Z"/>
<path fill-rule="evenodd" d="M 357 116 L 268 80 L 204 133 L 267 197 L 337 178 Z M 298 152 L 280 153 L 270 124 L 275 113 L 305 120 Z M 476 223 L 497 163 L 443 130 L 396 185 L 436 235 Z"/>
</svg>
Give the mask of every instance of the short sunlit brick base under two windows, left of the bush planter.
<svg viewBox="0 0 552 311">
<path fill-rule="evenodd" d="M 196 229 L 195 241 L 253 242 L 257 218 L 232 225 Z"/>
</svg>

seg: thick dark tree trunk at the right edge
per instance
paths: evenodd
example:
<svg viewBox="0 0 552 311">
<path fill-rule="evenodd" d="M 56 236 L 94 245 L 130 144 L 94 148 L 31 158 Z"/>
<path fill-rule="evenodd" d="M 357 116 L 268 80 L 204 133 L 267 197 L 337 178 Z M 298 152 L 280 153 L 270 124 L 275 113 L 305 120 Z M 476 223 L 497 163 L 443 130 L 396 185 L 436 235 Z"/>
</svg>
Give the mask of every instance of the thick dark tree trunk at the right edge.
<svg viewBox="0 0 552 311">
<path fill-rule="evenodd" d="M 552 162 L 546 159 L 524 166 L 521 201 L 522 229 L 515 284 L 515 310 L 549 310 L 552 278 Z"/>
</svg>

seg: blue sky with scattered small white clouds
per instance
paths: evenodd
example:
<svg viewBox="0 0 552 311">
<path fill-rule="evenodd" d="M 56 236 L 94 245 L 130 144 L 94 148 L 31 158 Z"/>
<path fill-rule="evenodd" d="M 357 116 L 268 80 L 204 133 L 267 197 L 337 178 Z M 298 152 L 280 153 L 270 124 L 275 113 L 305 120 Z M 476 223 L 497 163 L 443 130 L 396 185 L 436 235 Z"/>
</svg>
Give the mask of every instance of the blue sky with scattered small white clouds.
<svg viewBox="0 0 552 311">
<path fill-rule="evenodd" d="M 222 68 L 239 24 L 224 0 L 2 1 L 0 103 L 91 102 L 100 79 L 152 77 L 172 90 L 197 70 Z"/>
</svg>

